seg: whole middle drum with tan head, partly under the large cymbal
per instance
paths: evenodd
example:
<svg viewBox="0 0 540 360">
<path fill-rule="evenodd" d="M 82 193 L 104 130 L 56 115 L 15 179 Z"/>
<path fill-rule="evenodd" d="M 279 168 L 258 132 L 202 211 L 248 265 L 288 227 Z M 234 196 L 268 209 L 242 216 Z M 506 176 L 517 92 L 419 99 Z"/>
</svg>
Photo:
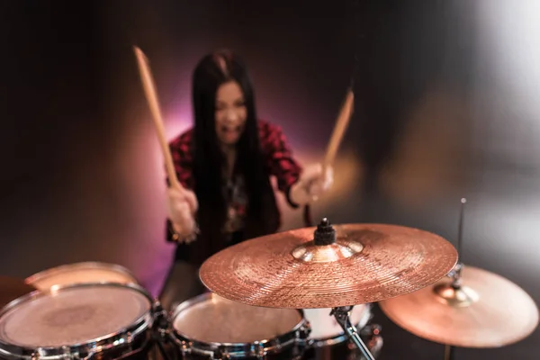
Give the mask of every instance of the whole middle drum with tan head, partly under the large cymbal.
<svg viewBox="0 0 540 360">
<path fill-rule="evenodd" d="M 310 332 L 302 311 L 244 305 L 214 293 L 178 305 L 171 324 L 185 360 L 300 359 Z"/>
</svg>

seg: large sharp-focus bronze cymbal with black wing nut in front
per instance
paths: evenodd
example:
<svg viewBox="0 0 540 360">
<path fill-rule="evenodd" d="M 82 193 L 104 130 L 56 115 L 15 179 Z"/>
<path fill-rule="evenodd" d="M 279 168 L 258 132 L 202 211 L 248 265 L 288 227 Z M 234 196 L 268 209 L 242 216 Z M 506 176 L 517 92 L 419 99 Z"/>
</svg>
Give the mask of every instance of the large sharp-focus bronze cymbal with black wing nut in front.
<svg viewBox="0 0 540 360">
<path fill-rule="evenodd" d="M 254 238 L 220 251 L 202 264 L 202 283 L 248 305 L 334 308 L 417 291 L 457 262 L 455 247 L 427 231 L 347 224 L 334 226 L 333 238 L 324 221 L 318 228 Z"/>
</svg>

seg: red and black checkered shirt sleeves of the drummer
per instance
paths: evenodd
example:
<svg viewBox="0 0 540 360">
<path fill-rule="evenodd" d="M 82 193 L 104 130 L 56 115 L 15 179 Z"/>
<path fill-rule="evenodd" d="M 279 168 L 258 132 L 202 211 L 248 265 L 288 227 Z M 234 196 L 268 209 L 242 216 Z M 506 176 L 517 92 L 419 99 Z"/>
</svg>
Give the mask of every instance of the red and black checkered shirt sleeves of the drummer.
<svg viewBox="0 0 540 360">
<path fill-rule="evenodd" d="M 269 175 L 275 176 L 278 189 L 288 195 L 289 189 L 302 173 L 302 166 L 293 158 L 280 126 L 267 121 L 258 121 L 258 133 Z M 180 184 L 188 189 L 193 189 L 194 186 L 192 139 L 193 129 L 189 129 L 170 143 L 176 176 Z M 292 202 L 291 205 L 296 207 Z"/>
</svg>

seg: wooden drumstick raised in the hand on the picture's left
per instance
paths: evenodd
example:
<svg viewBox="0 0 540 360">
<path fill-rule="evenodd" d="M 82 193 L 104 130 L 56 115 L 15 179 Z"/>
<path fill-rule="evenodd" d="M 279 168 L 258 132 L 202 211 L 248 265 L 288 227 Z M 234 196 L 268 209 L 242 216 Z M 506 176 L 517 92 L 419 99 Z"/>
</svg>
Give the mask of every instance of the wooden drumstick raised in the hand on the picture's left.
<svg viewBox="0 0 540 360">
<path fill-rule="evenodd" d="M 176 176 L 175 166 L 173 165 L 173 157 L 171 155 L 171 149 L 168 146 L 168 142 L 165 136 L 165 126 L 163 125 L 163 118 L 161 116 L 161 110 L 159 108 L 159 102 L 157 101 L 157 91 L 156 85 L 152 78 L 152 73 L 150 72 L 150 67 L 148 66 L 148 58 L 141 49 L 134 46 L 135 56 L 137 57 L 137 62 L 139 64 L 139 74 L 140 79 L 142 80 L 142 86 L 144 87 L 144 92 L 146 94 L 148 105 L 150 111 L 152 112 L 152 117 L 154 119 L 154 125 L 156 125 L 157 138 L 159 139 L 159 144 L 161 145 L 161 151 L 163 152 L 163 157 L 165 157 L 166 172 L 169 178 L 171 187 L 178 189 L 184 189 L 182 184 L 178 181 Z"/>
</svg>

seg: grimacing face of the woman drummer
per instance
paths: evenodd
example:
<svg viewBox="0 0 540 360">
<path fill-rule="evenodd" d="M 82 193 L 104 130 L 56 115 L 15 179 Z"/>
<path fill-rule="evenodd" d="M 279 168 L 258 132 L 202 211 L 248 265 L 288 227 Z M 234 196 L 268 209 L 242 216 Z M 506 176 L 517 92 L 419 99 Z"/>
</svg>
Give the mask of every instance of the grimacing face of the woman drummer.
<svg viewBox="0 0 540 360">
<path fill-rule="evenodd" d="M 238 142 L 246 124 L 244 94 L 236 81 L 220 85 L 216 94 L 216 133 L 225 145 Z"/>
</svg>

